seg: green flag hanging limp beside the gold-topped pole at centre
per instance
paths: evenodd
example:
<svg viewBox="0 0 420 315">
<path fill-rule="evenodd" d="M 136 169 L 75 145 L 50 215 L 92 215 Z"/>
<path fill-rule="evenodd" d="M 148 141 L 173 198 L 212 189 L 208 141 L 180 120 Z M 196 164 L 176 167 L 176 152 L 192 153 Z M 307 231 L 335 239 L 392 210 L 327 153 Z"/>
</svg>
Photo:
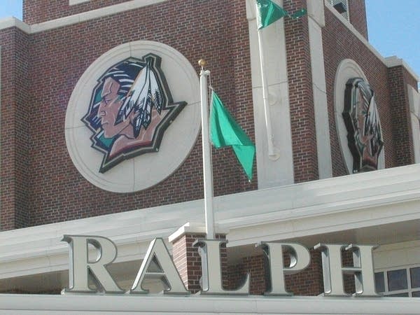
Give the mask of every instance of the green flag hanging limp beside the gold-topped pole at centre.
<svg viewBox="0 0 420 315">
<path fill-rule="evenodd" d="M 255 146 L 246 136 L 244 130 L 230 116 L 215 92 L 211 93 L 211 103 L 213 105 L 210 113 L 211 142 L 216 148 L 232 146 L 248 180 L 251 181 Z"/>
</svg>

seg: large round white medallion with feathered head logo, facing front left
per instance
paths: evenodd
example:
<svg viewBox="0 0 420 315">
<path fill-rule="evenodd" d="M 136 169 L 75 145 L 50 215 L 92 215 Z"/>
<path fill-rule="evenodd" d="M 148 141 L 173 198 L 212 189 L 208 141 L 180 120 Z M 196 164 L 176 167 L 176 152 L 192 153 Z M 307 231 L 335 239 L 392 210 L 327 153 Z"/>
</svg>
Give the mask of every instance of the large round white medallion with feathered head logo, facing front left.
<svg viewBox="0 0 420 315">
<path fill-rule="evenodd" d="M 66 145 L 87 181 L 132 193 L 172 174 L 200 132 L 200 84 L 180 52 L 136 41 L 99 57 L 66 111 Z"/>
</svg>

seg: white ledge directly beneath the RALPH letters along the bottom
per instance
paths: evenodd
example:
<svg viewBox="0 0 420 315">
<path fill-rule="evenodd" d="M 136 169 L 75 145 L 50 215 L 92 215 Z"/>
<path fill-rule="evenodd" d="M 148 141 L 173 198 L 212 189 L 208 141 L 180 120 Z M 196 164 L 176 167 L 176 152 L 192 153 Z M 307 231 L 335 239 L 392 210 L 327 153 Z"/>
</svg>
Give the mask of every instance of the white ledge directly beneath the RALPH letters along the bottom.
<svg viewBox="0 0 420 315">
<path fill-rule="evenodd" d="M 0 314 L 417 314 L 420 299 L 398 297 L 0 295 Z"/>
</svg>

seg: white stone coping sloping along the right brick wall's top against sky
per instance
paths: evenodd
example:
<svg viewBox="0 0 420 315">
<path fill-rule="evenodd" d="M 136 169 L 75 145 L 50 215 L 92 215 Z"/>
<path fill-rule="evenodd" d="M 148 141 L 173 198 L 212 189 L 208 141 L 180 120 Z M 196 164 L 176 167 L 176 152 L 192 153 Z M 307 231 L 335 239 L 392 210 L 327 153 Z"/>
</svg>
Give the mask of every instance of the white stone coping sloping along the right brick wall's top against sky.
<svg viewBox="0 0 420 315">
<path fill-rule="evenodd" d="M 388 68 L 391 66 L 404 66 L 405 69 L 407 69 L 407 71 L 417 81 L 420 80 L 419 76 L 407 65 L 407 63 L 403 62 L 402 59 L 399 59 L 398 57 L 393 56 L 393 57 L 388 57 L 391 59 L 391 61 L 388 61 L 387 60 L 388 58 L 382 57 L 382 55 L 367 41 L 365 37 L 363 37 L 362 34 L 358 32 L 358 30 L 355 29 L 348 20 L 343 18 L 342 15 L 337 12 L 337 10 L 335 10 L 335 8 L 331 5 L 329 0 L 324 0 L 324 1 L 325 1 L 325 6 L 328 8 L 328 10 L 330 10 L 335 15 L 335 17 L 339 21 L 341 21 L 344 24 L 344 26 L 347 27 L 354 34 L 354 36 L 356 36 L 366 46 L 366 48 L 369 49 L 385 66 L 387 66 Z M 394 59 L 399 59 L 401 60 L 401 62 L 395 63 L 395 61 L 393 61 Z"/>
</svg>

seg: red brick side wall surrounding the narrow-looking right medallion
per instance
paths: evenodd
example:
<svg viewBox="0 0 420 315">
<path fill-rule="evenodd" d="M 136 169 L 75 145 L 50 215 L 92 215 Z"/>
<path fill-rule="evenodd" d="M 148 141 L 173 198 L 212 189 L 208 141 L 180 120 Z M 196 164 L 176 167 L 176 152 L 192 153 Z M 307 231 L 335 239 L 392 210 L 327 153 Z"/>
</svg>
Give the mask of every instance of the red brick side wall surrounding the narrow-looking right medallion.
<svg viewBox="0 0 420 315">
<path fill-rule="evenodd" d="M 395 167 L 412 163 L 413 160 L 410 159 L 402 163 L 397 162 L 398 155 L 395 153 L 395 146 L 399 145 L 400 138 L 395 134 L 393 124 L 407 125 L 407 121 L 396 118 L 395 113 L 393 113 L 393 102 L 391 102 L 390 95 L 391 87 L 388 85 L 388 68 L 342 22 L 339 22 L 328 8 L 325 8 L 325 27 L 322 30 L 322 34 L 333 176 L 346 174 L 346 168 L 344 167 L 344 160 L 337 138 L 333 99 L 337 66 L 339 62 L 346 58 L 353 59 L 359 64 L 375 92 L 385 141 L 385 167 Z M 408 103 L 401 106 L 407 108 Z M 405 126 L 404 128 L 408 127 Z M 407 135 L 406 137 L 409 136 Z"/>
</svg>

